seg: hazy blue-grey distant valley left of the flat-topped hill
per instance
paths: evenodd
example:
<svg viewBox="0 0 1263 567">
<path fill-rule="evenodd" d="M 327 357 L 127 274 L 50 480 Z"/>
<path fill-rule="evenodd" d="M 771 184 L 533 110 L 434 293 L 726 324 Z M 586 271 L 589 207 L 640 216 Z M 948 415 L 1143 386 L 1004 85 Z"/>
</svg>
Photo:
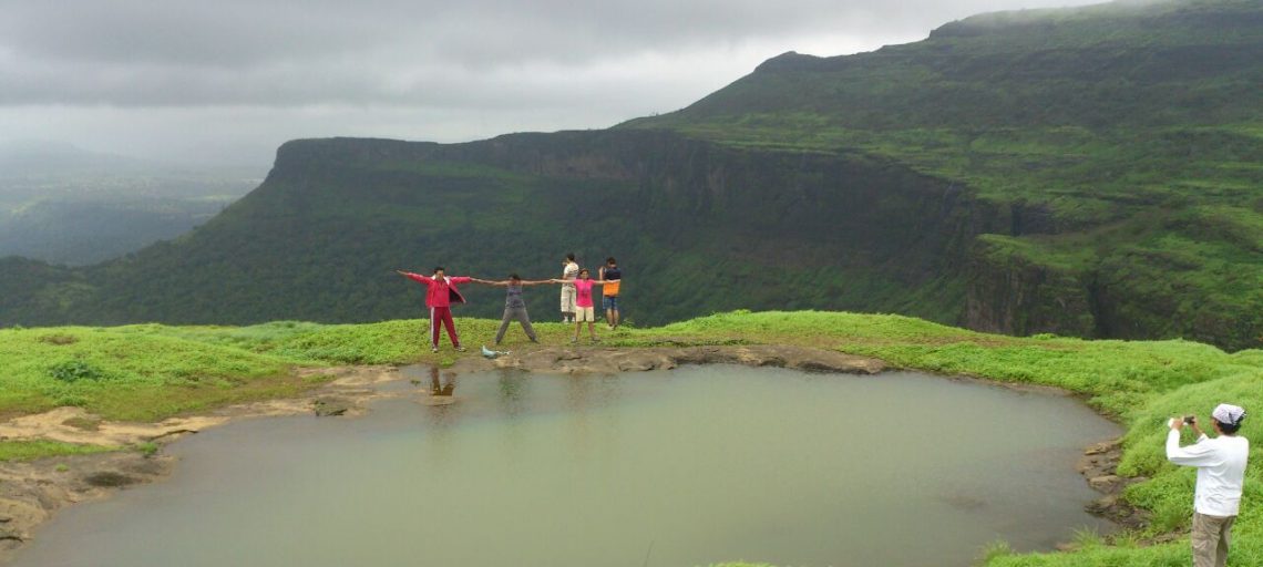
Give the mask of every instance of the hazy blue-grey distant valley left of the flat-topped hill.
<svg viewBox="0 0 1263 567">
<path fill-rule="evenodd" d="M 64 144 L 0 144 L 0 258 L 110 260 L 206 222 L 261 181 L 246 167 L 173 167 Z"/>
</svg>

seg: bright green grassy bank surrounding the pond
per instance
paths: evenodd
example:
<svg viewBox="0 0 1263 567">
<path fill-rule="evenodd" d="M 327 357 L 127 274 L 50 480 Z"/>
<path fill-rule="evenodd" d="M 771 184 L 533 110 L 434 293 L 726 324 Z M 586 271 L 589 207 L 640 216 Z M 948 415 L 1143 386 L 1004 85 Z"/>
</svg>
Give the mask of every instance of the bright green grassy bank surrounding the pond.
<svg viewBox="0 0 1263 567">
<path fill-rule="evenodd" d="M 251 399 L 293 395 L 318 379 L 293 376 L 296 366 L 344 364 L 451 364 L 476 356 L 498 321 L 457 322 L 470 352 L 432 355 L 422 347 L 423 321 L 326 326 L 277 322 L 253 327 L 157 325 L 0 331 L 0 415 L 81 405 L 107 419 L 157 421 Z M 546 345 L 568 341 L 573 327 L 539 323 Z M 894 366 L 965 374 L 998 381 L 1065 388 L 1127 427 L 1120 472 L 1149 481 L 1125 498 L 1154 514 L 1144 532 L 1104 544 L 1081 539 L 1072 553 L 1012 554 L 988 549 L 990 566 L 1183 566 L 1187 539 L 1142 544 L 1187 528 L 1194 471 L 1166 463 L 1166 417 L 1196 412 L 1205 419 L 1219 402 L 1263 412 L 1263 351 L 1226 354 L 1186 341 L 1084 341 L 1053 336 L 985 335 L 899 316 L 851 313 L 746 313 L 702 317 L 657 328 L 602 332 L 605 346 L 789 343 L 887 360 Z M 518 330 L 509 349 L 529 347 Z M 514 342 L 517 341 L 517 342 Z M 997 424 L 1003 427 L 1003 424 Z M 1260 418 L 1243 434 L 1263 439 Z M 1260 441 L 1263 442 L 1263 441 Z M 1258 443 L 1255 443 L 1255 447 Z M 8 448 L 0 443 L 0 458 Z M 52 450 L 66 451 L 64 447 Z M 39 456 L 39 446 L 20 456 Z M 1231 564 L 1263 564 L 1263 455 L 1254 450 L 1243 514 L 1234 528 Z"/>
</svg>

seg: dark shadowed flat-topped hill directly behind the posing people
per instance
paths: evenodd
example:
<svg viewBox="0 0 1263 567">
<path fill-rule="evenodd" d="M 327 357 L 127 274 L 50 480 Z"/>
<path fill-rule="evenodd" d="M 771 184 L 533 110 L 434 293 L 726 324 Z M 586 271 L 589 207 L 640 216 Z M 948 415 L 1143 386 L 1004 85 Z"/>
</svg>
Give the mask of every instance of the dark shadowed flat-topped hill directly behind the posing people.
<svg viewBox="0 0 1263 567">
<path fill-rule="evenodd" d="M 481 162 L 461 162 L 467 154 Z M 690 160 L 730 179 L 698 194 L 709 173 Z M 523 172 L 536 167 L 572 173 Z M 837 192 L 840 182 L 859 188 Z M 798 186 L 789 198 L 767 191 L 787 183 Z M 937 285 L 936 275 L 946 241 L 885 221 L 919 207 L 889 194 L 940 186 L 863 159 L 645 133 L 450 146 L 294 141 L 263 187 L 173 242 L 80 270 L 0 260 L 0 287 L 10 292 L 0 313 L 21 325 L 384 321 L 423 309 L 423 288 L 395 269 L 542 279 L 560 277 L 573 251 L 594 269 L 619 258 L 625 314 L 639 323 L 748 307 L 950 321 L 960 289 Z M 879 213 L 836 215 L 858 206 Z M 501 290 L 465 290 L 470 304 L 460 313 L 499 314 Z M 537 317 L 557 313 L 556 288 L 528 295 Z M 936 295 L 949 298 L 922 301 Z"/>
</svg>

